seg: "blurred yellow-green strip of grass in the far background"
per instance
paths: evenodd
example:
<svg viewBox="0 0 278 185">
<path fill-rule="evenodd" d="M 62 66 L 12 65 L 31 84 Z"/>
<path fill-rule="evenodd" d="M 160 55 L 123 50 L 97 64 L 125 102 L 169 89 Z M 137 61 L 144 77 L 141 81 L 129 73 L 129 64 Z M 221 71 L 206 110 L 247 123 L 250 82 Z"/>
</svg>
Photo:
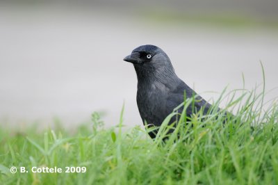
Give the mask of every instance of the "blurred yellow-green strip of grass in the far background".
<svg viewBox="0 0 278 185">
<path fill-rule="evenodd" d="M 139 13 L 142 15 L 142 13 Z M 235 31 L 236 29 L 269 29 L 276 31 L 278 29 L 277 18 L 275 17 L 256 17 L 244 13 L 188 13 L 179 10 L 145 10 L 146 19 L 152 24 L 167 25 L 199 25 L 213 26 L 216 28 L 226 28 Z"/>
</svg>

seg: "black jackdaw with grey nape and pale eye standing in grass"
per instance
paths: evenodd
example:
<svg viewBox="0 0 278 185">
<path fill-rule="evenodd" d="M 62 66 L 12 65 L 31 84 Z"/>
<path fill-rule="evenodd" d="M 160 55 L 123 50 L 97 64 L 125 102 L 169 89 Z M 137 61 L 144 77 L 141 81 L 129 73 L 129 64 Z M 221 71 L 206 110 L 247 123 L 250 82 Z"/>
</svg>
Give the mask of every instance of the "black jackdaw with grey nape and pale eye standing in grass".
<svg viewBox="0 0 278 185">
<path fill-rule="evenodd" d="M 197 95 L 177 74 L 165 52 L 154 45 L 142 45 L 133 49 L 131 55 L 126 56 L 124 61 L 133 63 L 136 70 L 137 85 L 137 105 L 143 122 L 160 126 L 163 120 L 172 113 L 173 109 L 187 98 Z M 186 109 L 186 115 L 190 118 L 193 110 L 203 109 L 206 114 L 211 108 L 211 104 L 202 97 L 195 97 L 197 101 Z M 181 112 L 183 108 L 179 108 Z M 176 118 L 172 118 L 170 123 Z M 155 133 L 149 133 L 155 138 Z"/>
</svg>

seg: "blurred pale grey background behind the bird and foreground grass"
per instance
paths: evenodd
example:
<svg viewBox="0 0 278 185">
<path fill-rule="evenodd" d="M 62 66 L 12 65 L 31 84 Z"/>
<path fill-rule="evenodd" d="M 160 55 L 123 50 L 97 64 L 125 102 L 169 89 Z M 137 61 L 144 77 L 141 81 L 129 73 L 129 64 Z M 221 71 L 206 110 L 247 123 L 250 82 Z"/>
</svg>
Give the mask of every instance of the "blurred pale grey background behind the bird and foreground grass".
<svg viewBox="0 0 278 185">
<path fill-rule="evenodd" d="M 261 84 L 260 61 L 266 91 L 278 87 L 276 0 L 1 1 L 0 124 L 74 128 L 99 111 L 111 127 L 125 104 L 124 124 L 142 125 L 122 58 L 146 44 L 209 102 L 243 88 L 243 74 L 248 90 Z"/>
</svg>

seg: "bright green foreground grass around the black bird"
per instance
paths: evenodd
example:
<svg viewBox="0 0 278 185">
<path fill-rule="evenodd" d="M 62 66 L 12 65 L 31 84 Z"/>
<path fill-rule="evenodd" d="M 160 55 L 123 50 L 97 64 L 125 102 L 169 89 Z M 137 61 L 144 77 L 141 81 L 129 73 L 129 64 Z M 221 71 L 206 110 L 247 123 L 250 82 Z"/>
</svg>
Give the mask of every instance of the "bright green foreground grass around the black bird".
<svg viewBox="0 0 278 185">
<path fill-rule="evenodd" d="M 221 113 L 186 115 L 163 122 L 156 139 L 140 127 L 122 130 L 124 108 L 116 127 L 104 129 L 97 113 L 89 127 L 75 134 L 63 128 L 24 133 L 0 130 L 0 184 L 278 184 L 278 107 L 262 108 L 265 92 L 237 90 Z M 188 106 L 193 99 L 186 99 Z M 222 124 L 224 111 L 234 116 Z M 205 118 L 206 117 L 206 118 Z M 163 141 L 167 130 L 175 131 Z M 10 172 L 15 166 L 17 173 Z M 28 173 L 18 172 L 26 167 Z M 61 173 L 35 173 L 31 168 L 62 168 Z M 66 166 L 85 172 L 65 172 Z"/>
</svg>

